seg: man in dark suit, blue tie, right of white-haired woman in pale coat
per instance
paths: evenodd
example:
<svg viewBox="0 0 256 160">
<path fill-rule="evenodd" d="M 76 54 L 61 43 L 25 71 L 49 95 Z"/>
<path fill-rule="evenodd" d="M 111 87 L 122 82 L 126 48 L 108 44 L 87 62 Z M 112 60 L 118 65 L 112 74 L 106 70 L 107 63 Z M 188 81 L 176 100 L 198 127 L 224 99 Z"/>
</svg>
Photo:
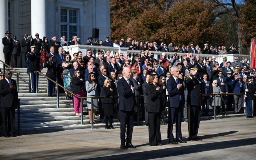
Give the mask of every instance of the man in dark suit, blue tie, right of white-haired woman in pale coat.
<svg viewBox="0 0 256 160">
<path fill-rule="evenodd" d="M 218 73 L 218 78 L 216 78 L 218 86 L 221 89 L 221 92 L 223 93 L 228 93 L 229 92 L 229 88 L 228 88 L 228 84 L 227 84 L 227 80 L 226 78 L 223 76 L 223 72 L 219 71 Z M 225 115 L 225 104 L 226 104 L 226 96 L 222 96 L 221 97 L 221 110 L 222 110 L 222 115 Z"/>
</svg>

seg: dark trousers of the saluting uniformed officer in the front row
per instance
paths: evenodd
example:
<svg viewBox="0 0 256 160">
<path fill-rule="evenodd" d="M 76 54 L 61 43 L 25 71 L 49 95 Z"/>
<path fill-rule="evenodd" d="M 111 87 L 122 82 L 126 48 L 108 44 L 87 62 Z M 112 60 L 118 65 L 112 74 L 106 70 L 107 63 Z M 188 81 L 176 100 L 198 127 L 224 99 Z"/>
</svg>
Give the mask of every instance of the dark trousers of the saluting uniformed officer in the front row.
<svg viewBox="0 0 256 160">
<path fill-rule="evenodd" d="M 188 105 L 188 136 L 197 137 L 200 124 L 201 106 Z"/>
</svg>

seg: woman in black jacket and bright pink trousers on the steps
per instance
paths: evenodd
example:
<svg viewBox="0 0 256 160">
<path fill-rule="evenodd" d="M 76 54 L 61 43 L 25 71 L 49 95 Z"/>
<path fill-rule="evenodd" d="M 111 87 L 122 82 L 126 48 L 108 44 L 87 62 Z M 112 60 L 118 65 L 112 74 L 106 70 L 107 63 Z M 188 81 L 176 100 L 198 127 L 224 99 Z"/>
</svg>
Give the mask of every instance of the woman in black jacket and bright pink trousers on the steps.
<svg viewBox="0 0 256 160">
<path fill-rule="evenodd" d="M 77 96 L 84 96 L 84 80 L 80 77 L 81 72 L 75 70 L 74 76 L 71 78 L 72 92 Z M 74 96 L 74 110 L 76 116 L 81 116 L 81 98 Z"/>
</svg>

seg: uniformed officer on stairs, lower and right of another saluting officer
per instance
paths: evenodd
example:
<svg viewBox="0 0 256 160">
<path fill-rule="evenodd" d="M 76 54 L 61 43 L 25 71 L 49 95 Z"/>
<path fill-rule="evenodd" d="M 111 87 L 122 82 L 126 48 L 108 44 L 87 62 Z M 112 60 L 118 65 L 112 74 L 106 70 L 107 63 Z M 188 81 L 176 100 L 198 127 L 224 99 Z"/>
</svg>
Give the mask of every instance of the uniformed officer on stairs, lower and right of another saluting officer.
<svg viewBox="0 0 256 160">
<path fill-rule="evenodd" d="M 47 68 L 46 76 L 56 81 L 56 65 L 53 63 L 53 56 L 48 57 L 48 61 L 44 63 L 44 68 Z M 47 79 L 47 93 L 48 96 L 54 96 L 55 83 Z"/>
</svg>

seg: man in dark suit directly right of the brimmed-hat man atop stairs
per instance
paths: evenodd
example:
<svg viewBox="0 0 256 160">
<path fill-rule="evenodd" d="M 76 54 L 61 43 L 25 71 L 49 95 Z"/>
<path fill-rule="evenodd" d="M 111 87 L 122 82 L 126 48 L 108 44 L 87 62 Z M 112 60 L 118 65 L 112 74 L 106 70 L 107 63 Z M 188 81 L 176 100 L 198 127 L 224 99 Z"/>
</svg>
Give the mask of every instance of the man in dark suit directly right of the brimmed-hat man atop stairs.
<svg viewBox="0 0 256 160">
<path fill-rule="evenodd" d="M 13 51 L 11 53 L 11 67 L 20 67 L 20 41 L 13 35 Z"/>
</svg>

